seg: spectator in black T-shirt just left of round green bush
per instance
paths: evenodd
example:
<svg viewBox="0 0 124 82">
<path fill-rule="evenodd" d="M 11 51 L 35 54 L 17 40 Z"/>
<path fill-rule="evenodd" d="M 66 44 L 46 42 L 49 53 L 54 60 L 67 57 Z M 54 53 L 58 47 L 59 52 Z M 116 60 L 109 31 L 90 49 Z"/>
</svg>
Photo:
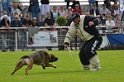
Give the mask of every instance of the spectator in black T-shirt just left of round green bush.
<svg viewBox="0 0 124 82">
<path fill-rule="evenodd" d="M 46 27 L 50 27 L 48 28 L 48 30 L 55 29 L 56 26 L 55 19 L 51 17 L 51 14 L 49 12 L 47 13 L 47 18 L 44 20 L 44 24 Z"/>
</svg>

